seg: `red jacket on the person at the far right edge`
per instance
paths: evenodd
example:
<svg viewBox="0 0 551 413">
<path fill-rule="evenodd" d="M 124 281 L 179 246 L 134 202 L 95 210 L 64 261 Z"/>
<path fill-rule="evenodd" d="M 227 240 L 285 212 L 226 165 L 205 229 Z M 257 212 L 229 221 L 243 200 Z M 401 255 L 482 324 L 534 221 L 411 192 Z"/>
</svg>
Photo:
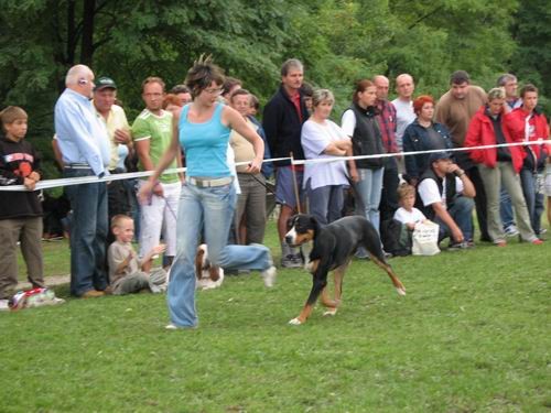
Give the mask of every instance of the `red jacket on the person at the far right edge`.
<svg viewBox="0 0 551 413">
<path fill-rule="evenodd" d="M 549 124 L 548 120 L 545 119 L 545 116 L 537 109 L 532 113 L 533 116 L 529 120 L 529 122 L 534 128 L 534 134 L 530 137 L 530 141 L 537 141 L 539 139 L 549 139 Z M 530 113 L 523 110 L 521 107 L 510 112 L 510 118 L 508 119 L 508 123 L 509 123 L 509 129 L 512 131 L 516 140 L 523 141 L 526 139 L 526 118 L 529 115 Z M 527 157 L 530 157 L 531 153 L 533 153 L 534 160 L 531 161 L 530 164 L 534 162 L 537 167 L 538 166 L 542 167 L 545 161 L 545 156 L 549 155 L 550 151 L 549 146 L 533 144 L 525 148 L 527 152 Z"/>
</svg>

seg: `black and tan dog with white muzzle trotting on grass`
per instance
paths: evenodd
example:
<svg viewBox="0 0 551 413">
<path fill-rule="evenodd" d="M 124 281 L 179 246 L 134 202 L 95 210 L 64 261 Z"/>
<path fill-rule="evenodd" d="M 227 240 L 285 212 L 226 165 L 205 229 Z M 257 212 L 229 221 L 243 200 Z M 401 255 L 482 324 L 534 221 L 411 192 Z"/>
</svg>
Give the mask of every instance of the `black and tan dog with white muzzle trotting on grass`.
<svg viewBox="0 0 551 413">
<path fill-rule="evenodd" d="M 353 216 L 345 217 L 327 226 L 320 226 L 310 215 L 299 214 L 290 218 L 285 241 L 291 246 L 301 246 L 313 241 L 310 253 L 309 271 L 313 275 L 313 285 L 301 314 L 289 323 L 300 325 L 306 322 L 313 306 L 322 294 L 322 304 L 327 307 L 324 315 L 334 315 L 341 304 L 343 276 L 356 249 L 363 246 L 372 262 L 382 268 L 390 276 L 398 294 L 406 295 L 406 287 L 396 276 L 385 259 L 379 235 L 367 219 Z M 327 295 L 327 274 L 334 271 L 335 300 Z"/>
</svg>

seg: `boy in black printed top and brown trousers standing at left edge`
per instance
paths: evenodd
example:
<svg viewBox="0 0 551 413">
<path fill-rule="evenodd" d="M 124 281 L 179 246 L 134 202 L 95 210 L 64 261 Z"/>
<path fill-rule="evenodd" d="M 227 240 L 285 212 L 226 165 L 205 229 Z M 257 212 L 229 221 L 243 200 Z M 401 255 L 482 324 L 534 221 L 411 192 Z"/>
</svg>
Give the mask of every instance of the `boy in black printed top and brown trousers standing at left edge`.
<svg viewBox="0 0 551 413">
<path fill-rule="evenodd" d="M 24 185 L 29 191 L 0 196 L 0 311 L 18 286 L 18 241 L 33 289 L 44 287 L 42 260 L 42 205 L 33 191 L 41 175 L 32 145 L 24 141 L 26 112 L 9 106 L 0 111 L 4 135 L 0 138 L 0 185 Z"/>
</svg>

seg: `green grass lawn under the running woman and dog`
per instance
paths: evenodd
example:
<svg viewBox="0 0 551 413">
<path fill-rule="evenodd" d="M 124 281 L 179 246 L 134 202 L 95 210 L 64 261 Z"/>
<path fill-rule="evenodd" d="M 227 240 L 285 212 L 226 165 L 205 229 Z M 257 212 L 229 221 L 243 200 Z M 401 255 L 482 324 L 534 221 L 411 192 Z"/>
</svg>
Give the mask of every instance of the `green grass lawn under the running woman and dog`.
<svg viewBox="0 0 551 413">
<path fill-rule="evenodd" d="M 273 226 L 269 233 L 277 252 Z M 66 244 L 47 248 L 48 274 L 68 272 Z M 303 326 L 287 324 L 311 287 L 303 270 L 281 270 L 272 290 L 255 273 L 197 292 L 195 330 L 163 329 L 162 295 L 1 313 L 0 410 L 551 410 L 551 241 L 391 263 L 406 297 L 355 261 L 337 315 L 318 306 Z"/>
</svg>

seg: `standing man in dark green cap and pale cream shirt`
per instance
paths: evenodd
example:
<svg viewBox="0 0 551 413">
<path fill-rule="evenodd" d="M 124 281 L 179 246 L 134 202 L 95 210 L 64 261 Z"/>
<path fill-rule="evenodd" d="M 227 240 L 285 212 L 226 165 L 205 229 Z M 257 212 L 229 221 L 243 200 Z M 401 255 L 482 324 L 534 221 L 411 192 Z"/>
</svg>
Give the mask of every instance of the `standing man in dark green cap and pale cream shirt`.
<svg viewBox="0 0 551 413">
<path fill-rule="evenodd" d="M 109 172 L 118 174 L 125 172 L 125 159 L 132 149 L 132 137 L 128 124 L 125 109 L 115 105 L 117 99 L 117 85 L 109 77 L 100 77 L 96 80 L 94 88 L 94 108 L 98 118 L 107 128 L 110 142 Z M 112 181 L 108 187 L 109 220 L 118 214 L 128 214 L 130 207 L 130 194 L 123 181 Z"/>
</svg>

